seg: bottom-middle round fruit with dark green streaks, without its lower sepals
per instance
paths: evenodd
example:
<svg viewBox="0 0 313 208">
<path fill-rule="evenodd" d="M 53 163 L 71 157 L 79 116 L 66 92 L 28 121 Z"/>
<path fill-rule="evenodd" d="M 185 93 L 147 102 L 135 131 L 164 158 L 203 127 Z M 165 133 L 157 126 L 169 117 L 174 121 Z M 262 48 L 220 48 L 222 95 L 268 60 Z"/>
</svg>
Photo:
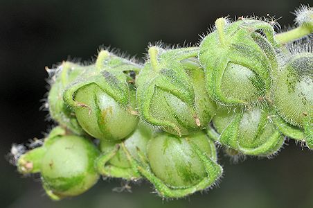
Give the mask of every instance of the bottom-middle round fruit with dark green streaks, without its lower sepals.
<svg viewBox="0 0 313 208">
<path fill-rule="evenodd" d="M 174 189 L 192 187 L 207 175 L 202 160 L 186 139 L 192 139 L 206 157 L 216 161 L 215 146 L 202 132 L 182 138 L 160 134 L 148 144 L 147 158 L 152 172 Z"/>
</svg>

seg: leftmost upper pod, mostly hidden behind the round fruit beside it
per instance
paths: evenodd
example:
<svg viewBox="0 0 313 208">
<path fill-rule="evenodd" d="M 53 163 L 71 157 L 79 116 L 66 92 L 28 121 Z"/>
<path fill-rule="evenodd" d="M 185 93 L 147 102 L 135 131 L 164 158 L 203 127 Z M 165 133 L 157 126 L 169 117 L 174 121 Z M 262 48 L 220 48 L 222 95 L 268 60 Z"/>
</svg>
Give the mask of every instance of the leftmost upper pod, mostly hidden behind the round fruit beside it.
<svg viewBox="0 0 313 208">
<path fill-rule="evenodd" d="M 84 131 L 78 124 L 78 121 L 72 110 L 64 104 L 63 92 L 75 78 L 86 71 L 91 71 L 93 66 L 83 67 L 72 62 L 63 62 L 60 67 L 54 71 L 51 78 L 51 89 L 48 92 L 48 110 L 52 119 L 59 125 L 74 132 L 76 135 L 83 135 Z M 51 69 L 47 69 L 50 73 Z"/>
</svg>

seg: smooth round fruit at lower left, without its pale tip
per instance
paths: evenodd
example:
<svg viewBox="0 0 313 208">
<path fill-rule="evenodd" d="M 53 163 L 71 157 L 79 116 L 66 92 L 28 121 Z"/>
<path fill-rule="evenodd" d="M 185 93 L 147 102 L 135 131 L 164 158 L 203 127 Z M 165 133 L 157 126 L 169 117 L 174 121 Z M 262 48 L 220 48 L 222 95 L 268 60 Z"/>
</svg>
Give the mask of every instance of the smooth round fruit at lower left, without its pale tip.
<svg viewBox="0 0 313 208">
<path fill-rule="evenodd" d="M 42 182 L 51 197 L 84 193 L 98 181 L 94 161 L 99 151 L 87 139 L 74 135 L 58 139 L 42 158 Z"/>
</svg>

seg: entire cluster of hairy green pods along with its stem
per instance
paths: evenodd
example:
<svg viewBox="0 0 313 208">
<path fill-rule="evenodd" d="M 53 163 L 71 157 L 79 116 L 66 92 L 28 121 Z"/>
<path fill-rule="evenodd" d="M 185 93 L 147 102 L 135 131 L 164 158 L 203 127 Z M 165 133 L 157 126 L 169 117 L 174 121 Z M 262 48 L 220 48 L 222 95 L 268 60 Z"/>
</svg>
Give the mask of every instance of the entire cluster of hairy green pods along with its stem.
<svg viewBox="0 0 313 208">
<path fill-rule="evenodd" d="M 290 31 L 275 24 L 219 18 L 199 46 L 150 46 L 144 63 L 107 50 L 63 62 L 48 92 L 57 127 L 15 155 L 18 171 L 39 173 L 53 200 L 100 176 L 182 198 L 219 181 L 217 145 L 231 157 L 272 157 L 286 137 L 313 149 L 313 9 Z"/>
</svg>

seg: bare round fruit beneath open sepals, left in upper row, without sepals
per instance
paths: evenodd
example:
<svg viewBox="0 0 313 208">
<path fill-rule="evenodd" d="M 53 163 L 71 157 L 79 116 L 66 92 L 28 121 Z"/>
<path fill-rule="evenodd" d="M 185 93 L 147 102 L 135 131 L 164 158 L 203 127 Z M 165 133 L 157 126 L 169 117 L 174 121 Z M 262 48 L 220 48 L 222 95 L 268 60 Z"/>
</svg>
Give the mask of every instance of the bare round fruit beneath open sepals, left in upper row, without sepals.
<svg viewBox="0 0 313 208">
<path fill-rule="evenodd" d="M 87 106 L 77 107 L 74 111 L 82 128 L 95 138 L 123 139 L 138 123 L 130 109 L 120 106 L 96 84 L 78 89 L 75 101 Z"/>
</svg>

